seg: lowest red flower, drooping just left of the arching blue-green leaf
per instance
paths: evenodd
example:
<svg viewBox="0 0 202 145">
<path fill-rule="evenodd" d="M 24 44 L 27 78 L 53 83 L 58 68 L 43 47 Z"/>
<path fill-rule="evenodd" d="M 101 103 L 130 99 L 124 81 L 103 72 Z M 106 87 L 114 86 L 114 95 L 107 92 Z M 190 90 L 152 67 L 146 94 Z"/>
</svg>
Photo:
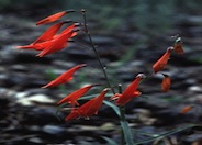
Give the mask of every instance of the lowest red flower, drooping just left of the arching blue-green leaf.
<svg viewBox="0 0 202 145">
<path fill-rule="evenodd" d="M 74 120 L 77 118 L 89 118 L 93 114 L 98 114 L 100 107 L 103 103 L 103 99 L 109 89 L 104 89 L 98 97 L 86 102 L 78 109 L 74 109 L 69 115 L 65 119 L 66 121 Z"/>
</svg>

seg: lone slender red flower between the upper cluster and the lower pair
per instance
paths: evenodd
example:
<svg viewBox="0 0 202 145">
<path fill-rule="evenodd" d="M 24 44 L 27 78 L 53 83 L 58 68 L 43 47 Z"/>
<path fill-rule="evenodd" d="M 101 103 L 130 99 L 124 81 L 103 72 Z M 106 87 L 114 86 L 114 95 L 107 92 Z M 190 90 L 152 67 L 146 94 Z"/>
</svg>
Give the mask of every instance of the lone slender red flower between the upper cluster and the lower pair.
<svg viewBox="0 0 202 145">
<path fill-rule="evenodd" d="M 85 67 L 85 66 L 87 66 L 87 64 L 77 65 L 77 66 L 70 68 L 69 70 L 67 70 L 66 72 L 61 74 L 59 77 L 57 77 L 56 79 L 54 79 L 53 81 L 50 81 L 46 86 L 43 86 L 42 88 L 56 87 L 56 86 L 59 86 L 61 83 L 66 83 L 66 82 L 68 82 L 70 80 L 72 80 L 74 74 L 78 69 L 80 69 L 81 67 Z"/>
</svg>

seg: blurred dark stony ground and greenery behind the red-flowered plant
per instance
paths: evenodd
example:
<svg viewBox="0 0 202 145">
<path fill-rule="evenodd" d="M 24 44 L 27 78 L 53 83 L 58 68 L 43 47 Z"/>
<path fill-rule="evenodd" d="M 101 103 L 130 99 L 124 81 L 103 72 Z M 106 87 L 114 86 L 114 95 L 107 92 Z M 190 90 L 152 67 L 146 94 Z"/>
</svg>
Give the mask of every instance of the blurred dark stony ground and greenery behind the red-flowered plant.
<svg viewBox="0 0 202 145">
<path fill-rule="evenodd" d="M 89 31 L 114 86 L 125 87 L 138 72 L 150 74 L 153 64 L 173 45 L 172 36 L 181 36 L 184 54 L 172 54 L 165 69 L 171 77 L 171 90 L 162 93 L 162 76 L 155 75 L 139 86 L 143 96 L 126 105 L 126 118 L 133 131 L 137 131 L 136 141 L 181 124 L 201 123 L 201 0 L 1 0 L 0 143 L 106 144 L 102 136 L 119 142 L 119 119 L 106 105 L 90 120 L 65 122 L 68 112 L 59 114 L 61 120 L 55 116 L 59 99 L 83 85 L 104 82 L 91 48 L 70 43 L 66 49 L 43 58 L 35 57 L 37 52 L 15 48 L 32 43 L 50 26 L 36 26 L 38 20 L 69 9 L 87 10 Z M 82 22 L 77 13 L 63 18 L 66 19 Z M 88 44 L 82 33 L 76 40 Z M 68 85 L 41 89 L 82 63 L 88 64 L 90 72 L 81 69 Z M 97 88 L 90 93 L 100 91 Z M 194 108 L 182 115 L 180 110 L 186 105 Z M 200 144 L 201 129 L 166 138 L 170 145 L 171 141 L 180 145 Z"/>
</svg>

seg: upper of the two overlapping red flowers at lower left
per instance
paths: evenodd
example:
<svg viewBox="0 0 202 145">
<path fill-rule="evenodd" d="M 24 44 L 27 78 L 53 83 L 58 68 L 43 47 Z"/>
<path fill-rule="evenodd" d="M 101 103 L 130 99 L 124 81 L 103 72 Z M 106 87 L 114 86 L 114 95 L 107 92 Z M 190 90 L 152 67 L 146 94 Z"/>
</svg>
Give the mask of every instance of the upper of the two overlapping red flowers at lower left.
<svg viewBox="0 0 202 145">
<path fill-rule="evenodd" d="M 79 103 L 77 102 L 77 99 L 79 99 L 80 97 L 82 97 L 86 92 L 88 92 L 94 86 L 98 86 L 98 85 L 88 85 L 88 86 L 85 86 L 85 87 L 82 87 L 82 88 L 80 88 L 80 89 L 71 92 L 70 94 L 66 96 L 57 104 L 70 103 L 72 107 L 75 107 L 76 104 L 79 105 Z"/>
</svg>

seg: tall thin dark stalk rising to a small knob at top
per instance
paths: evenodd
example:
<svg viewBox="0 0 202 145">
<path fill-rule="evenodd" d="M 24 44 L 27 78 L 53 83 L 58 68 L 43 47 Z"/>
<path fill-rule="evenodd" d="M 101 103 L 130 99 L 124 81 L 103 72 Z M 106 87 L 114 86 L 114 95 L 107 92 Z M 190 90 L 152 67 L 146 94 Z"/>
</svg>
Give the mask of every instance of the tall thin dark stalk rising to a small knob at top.
<svg viewBox="0 0 202 145">
<path fill-rule="evenodd" d="M 97 48 L 96 48 L 94 43 L 92 42 L 92 37 L 91 37 L 90 33 L 89 33 L 89 31 L 88 31 L 86 10 L 82 9 L 81 12 L 82 12 L 82 16 L 83 16 L 85 32 L 86 32 L 86 34 L 87 34 L 89 41 L 90 41 L 90 45 L 91 45 L 93 52 L 94 52 L 94 54 L 96 54 L 96 56 L 97 56 L 97 58 L 98 58 L 98 62 L 99 62 L 100 67 L 101 67 L 102 71 L 103 71 L 105 81 L 106 81 L 109 88 L 111 88 L 112 92 L 115 94 L 115 91 L 114 91 L 113 87 L 111 86 L 110 80 L 109 80 L 109 78 L 108 78 L 108 75 L 106 75 L 106 71 L 105 71 L 106 68 L 103 66 L 103 64 L 102 64 L 102 62 L 101 62 L 101 58 L 100 58 L 100 55 L 99 55 L 99 53 L 98 53 L 98 51 L 97 51 Z"/>
</svg>

